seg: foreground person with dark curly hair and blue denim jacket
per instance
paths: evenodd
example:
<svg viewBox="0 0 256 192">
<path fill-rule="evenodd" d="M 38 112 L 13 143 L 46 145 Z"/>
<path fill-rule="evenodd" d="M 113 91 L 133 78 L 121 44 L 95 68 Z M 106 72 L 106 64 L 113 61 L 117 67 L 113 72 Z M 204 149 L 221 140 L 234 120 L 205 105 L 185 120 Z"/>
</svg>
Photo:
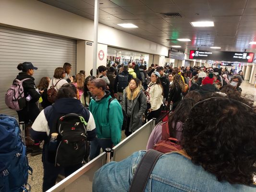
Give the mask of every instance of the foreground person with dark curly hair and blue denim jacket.
<svg viewBox="0 0 256 192">
<path fill-rule="evenodd" d="M 183 154 L 158 159 L 146 192 L 256 192 L 256 112 L 248 105 L 227 97 L 197 103 L 183 126 L 182 146 Z M 100 168 L 93 192 L 128 192 L 145 153 Z"/>
</svg>

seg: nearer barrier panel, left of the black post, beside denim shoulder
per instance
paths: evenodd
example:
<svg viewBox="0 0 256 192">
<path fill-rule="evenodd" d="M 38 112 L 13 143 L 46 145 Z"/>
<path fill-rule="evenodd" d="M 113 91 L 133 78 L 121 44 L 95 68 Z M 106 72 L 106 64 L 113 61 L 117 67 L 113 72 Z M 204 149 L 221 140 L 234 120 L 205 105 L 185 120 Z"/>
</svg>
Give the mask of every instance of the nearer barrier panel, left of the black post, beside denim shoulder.
<svg viewBox="0 0 256 192">
<path fill-rule="evenodd" d="M 107 154 L 103 152 L 47 192 L 92 192 L 94 173 L 106 164 L 106 157 Z"/>
</svg>

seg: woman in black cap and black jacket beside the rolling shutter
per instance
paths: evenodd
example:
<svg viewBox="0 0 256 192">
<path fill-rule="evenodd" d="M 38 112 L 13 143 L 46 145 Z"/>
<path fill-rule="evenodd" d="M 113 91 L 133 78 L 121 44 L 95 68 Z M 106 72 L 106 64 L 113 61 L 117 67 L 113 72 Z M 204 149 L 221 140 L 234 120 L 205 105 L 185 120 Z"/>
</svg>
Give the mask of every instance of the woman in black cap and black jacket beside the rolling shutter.
<svg viewBox="0 0 256 192">
<path fill-rule="evenodd" d="M 17 69 L 22 72 L 17 75 L 16 79 L 23 80 L 28 78 L 23 82 L 24 96 L 31 96 L 31 99 L 29 101 L 26 100 L 26 106 L 22 110 L 17 111 L 19 121 L 24 121 L 25 123 L 28 123 L 29 120 L 31 120 L 32 122 L 34 122 L 34 120 L 40 113 L 36 102 L 42 94 L 41 91 L 39 91 L 39 93 L 37 92 L 37 88 L 34 82 L 35 79 L 34 77 L 32 77 L 32 75 L 34 74 L 34 70 L 37 70 L 37 67 L 34 67 L 31 62 L 24 62 L 20 63 Z"/>
</svg>

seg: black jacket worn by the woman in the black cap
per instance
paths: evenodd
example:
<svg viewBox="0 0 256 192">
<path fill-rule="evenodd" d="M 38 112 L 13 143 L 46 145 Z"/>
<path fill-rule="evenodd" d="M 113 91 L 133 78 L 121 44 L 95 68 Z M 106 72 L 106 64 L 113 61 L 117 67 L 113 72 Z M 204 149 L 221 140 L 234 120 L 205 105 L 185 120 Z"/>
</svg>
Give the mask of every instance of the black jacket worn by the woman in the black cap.
<svg viewBox="0 0 256 192">
<path fill-rule="evenodd" d="M 26 78 L 29 79 L 23 82 L 24 96 L 26 97 L 30 95 L 32 99 L 29 101 L 29 103 L 36 103 L 41 95 L 36 91 L 36 85 L 34 82 L 35 78 L 26 74 L 25 72 L 20 72 L 16 77 L 18 80 L 23 80 Z"/>
</svg>

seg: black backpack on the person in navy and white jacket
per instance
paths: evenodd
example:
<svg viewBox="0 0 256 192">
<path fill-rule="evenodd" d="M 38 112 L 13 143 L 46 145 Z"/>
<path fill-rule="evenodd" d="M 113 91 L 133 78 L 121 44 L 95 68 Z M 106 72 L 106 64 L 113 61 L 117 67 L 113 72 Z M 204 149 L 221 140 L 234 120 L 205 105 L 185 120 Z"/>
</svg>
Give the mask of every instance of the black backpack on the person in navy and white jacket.
<svg viewBox="0 0 256 192">
<path fill-rule="evenodd" d="M 58 119 L 56 129 L 49 134 L 48 146 L 49 158 L 55 156 L 55 166 L 69 167 L 87 162 L 90 152 L 86 133 L 89 115 L 87 117 L 85 120 L 78 114 L 69 113 Z M 53 132 L 59 134 L 57 144 L 50 140 Z"/>
</svg>

